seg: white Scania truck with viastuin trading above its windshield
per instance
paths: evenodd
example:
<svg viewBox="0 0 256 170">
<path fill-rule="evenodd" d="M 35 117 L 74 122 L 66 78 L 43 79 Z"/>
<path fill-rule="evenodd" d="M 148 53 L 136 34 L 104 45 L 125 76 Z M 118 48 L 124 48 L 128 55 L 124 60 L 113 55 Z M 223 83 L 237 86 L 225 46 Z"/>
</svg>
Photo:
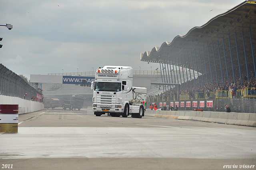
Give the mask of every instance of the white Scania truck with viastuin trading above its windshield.
<svg viewBox="0 0 256 170">
<path fill-rule="evenodd" d="M 104 66 L 92 82 L 93 111 L 96 116 L 142 118 L 146 109 L 146 88 L 132 87 L 132 67 Z"/>
</svg>

